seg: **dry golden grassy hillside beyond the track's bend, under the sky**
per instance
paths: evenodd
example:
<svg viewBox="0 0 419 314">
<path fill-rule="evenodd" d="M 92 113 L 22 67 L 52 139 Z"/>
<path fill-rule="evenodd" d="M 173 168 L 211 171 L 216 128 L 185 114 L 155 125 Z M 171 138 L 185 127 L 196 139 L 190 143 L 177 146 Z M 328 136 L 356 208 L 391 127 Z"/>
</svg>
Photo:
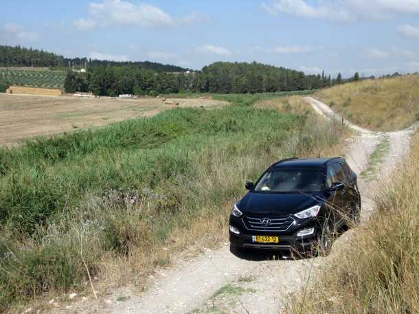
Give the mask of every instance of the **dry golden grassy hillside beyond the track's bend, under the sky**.
<svg viewBox="0 0 419 314">
<path fill-rule="evenodd" d="M 418 75 L 337 85 L 317 91 L 314 97 L 373 131 L 407 128 L 419 120 Z"/>
</svg>

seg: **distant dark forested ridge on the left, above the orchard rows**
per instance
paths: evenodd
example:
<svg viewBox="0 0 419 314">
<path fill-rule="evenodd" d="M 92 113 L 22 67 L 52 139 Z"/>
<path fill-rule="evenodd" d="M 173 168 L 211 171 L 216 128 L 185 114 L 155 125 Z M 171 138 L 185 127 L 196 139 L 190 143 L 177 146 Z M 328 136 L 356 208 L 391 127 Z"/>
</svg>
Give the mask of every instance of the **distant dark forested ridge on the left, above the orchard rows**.
<svg viewBox="0 0 419 314">
<path fill-rule="evenodd" d="M 84 67 L 84 65 L 95 67 L 103 66 L 128 66 L 136 69 L 150 69 L 157 72 L 185 72 L 188 69 L 175 65 L 163 65 L 149 61 L 126 61 L 117 62 L 109 60 L 93 60 L 90 58 L 64 58 L 52 52 L 44 52 L 25 47 L 10 47 L 0 45 L 0 67 Z"/>
</svg>

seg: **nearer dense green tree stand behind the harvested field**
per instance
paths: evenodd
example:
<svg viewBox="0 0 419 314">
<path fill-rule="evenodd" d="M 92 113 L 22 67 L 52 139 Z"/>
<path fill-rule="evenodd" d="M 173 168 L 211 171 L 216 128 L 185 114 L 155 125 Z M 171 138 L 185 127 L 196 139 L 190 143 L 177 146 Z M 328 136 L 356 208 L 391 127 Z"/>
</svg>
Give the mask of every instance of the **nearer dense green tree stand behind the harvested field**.
<svg viewBox="0 0 419 314">
<path fill-rule="evenodd" d="M 98 96 L 159 93 L 262 93 L 301 91 L 332 85 L 330 76 L 306 76 L 302 71 L 260 63 L 217 62 L 190 73 L 166 73 L 130 66 L 100 65 L 87 73 L 69 71 L 65 90 L 91 91 Z"/>
</svg>

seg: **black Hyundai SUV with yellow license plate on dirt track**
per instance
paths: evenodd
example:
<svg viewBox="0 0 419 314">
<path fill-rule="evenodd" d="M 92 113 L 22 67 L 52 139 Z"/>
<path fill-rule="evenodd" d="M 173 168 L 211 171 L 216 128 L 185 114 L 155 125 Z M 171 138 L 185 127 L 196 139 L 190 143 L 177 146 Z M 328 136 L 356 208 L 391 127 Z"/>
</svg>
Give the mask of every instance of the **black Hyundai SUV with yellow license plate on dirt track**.
<svg viewBox="0 0 419 314">
<path fill-rule="evenodd" d="M 326 255 L 333 235 L 359 221 L 356 174 L 341 157 L 284 159 L 245 188 L 231 210 L 232 251 L 318 249 Z"/>
</svg>

